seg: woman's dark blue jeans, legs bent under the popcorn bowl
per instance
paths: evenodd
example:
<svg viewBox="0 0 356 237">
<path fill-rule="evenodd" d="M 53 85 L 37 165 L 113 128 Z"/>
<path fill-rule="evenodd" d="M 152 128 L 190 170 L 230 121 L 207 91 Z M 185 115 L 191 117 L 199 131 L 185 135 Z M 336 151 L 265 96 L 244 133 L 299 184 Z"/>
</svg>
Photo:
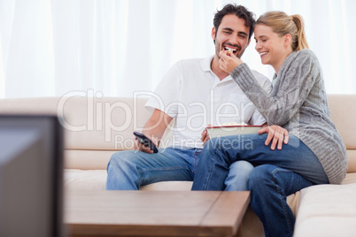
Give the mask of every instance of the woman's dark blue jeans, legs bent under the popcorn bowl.
<svg viewBox="0 0 356 237">
<path fill-rule="evenodd" d="M 292 236 L 295 218 L 286 196 L 329 180 L 313 152 L 290 135 L 281 150 L 265 145 L 267 134 L 213 138 L 200 154 L 192 190 L 224 190 L 231 164 L 244 160 L 256 166 L 249 177 L 252 209 L 266 236 Z"/>
</svg>

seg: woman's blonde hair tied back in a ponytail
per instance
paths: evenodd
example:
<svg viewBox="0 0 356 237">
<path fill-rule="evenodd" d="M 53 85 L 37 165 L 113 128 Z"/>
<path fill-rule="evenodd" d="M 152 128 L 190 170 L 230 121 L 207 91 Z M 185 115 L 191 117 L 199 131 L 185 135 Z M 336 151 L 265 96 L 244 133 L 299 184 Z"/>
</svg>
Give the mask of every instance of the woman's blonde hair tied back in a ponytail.
<svg viewBox="0 0 356 237">
<path fill-rule="evenodd" d="M 267 11 L 256 21 L 256 25 L 259 24 L 271 27 L 273 32 L 280 36 L 290 34 L 293 51 L 309 49 L 302 16 L 298 14 L 289 16 L 283 11 Z"/>
</svg>

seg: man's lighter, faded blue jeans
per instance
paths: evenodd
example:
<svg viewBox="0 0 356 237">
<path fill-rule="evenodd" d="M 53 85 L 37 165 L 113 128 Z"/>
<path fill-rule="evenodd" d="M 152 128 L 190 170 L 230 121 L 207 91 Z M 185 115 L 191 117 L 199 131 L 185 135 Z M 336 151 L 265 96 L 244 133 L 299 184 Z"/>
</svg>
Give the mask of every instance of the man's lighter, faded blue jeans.
<svg viewBox="0 0 356 237">
<path fill-rule="evenodd" d="M 107 166 L 107 190 L 138 190 L 159 181 L 192 181 L 202 149 L 159 149 L 148 154 L 138 150 L 119 151 Z M 241 161 L 231 166 L 227 190 L 247 190 L 252 164 Z"/>
</svg>

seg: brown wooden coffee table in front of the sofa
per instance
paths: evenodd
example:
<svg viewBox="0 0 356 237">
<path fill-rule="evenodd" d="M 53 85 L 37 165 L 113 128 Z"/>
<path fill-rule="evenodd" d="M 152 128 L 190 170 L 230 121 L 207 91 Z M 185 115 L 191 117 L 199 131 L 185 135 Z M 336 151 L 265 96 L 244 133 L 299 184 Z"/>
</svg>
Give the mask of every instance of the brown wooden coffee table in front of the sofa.
<svg viewBox="0 0 356 237">
<path fill-rule="evenodd" d="M 239 236 L 250 192 L 66 193 L 71 236 Z"/>
</svg>

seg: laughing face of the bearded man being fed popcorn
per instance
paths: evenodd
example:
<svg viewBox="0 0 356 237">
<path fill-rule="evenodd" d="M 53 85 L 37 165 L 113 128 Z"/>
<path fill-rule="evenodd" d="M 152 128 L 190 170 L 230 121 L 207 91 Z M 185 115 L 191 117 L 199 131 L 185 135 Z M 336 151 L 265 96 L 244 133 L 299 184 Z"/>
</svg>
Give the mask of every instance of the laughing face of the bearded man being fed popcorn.
<svg viewBox="0 0 356 237">
<path fill-rule="evenodd" d="M 238 18 L 234 14 L 225 15 L 216 31 L 212 30 L 212 37 L 215 41 L 215 57 L 220 58 L 221 50 L 230 50 L 236 57 L 241 58 L 244 50 L 249 45 L 250 28 L 244 26 L 244 19 Z"/>
</svg>

